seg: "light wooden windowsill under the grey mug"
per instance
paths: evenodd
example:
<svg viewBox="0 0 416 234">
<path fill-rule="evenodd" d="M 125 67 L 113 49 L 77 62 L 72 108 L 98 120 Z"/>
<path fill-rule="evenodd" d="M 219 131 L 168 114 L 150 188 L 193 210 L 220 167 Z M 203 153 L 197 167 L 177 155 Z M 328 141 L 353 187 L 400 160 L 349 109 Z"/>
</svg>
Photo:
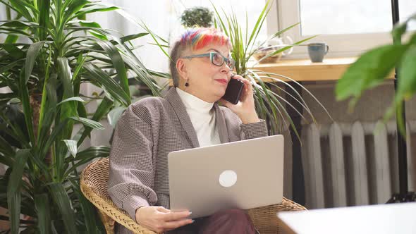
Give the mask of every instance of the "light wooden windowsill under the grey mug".
<svg viewBox="0 0 416 234">
<path fill-rule="evenodd" d="M 312 63 L 310 59 L 281 60 L 277 63 L 258 64 L 255 68 L 267 73 L 285 75 L 296 81 L 339 80 L 356 60 L 357 57 L 325 58 L 322 63 Z M 393 78 L 393 75 L 389 75 L 389 78 Z"/>
</svg>

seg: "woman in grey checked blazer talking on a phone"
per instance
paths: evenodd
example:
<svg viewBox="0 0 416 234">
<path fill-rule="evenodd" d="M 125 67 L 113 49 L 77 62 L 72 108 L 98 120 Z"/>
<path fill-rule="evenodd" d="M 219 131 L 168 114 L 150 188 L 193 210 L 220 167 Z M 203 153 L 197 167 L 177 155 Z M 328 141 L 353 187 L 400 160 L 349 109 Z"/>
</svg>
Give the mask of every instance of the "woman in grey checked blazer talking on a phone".
<svg viewBox="0 0 416 234">
<path fill-rule="evenodd" d="M 190 211 L 169 210 L 169 152 L 267 136 L 248 80 L 242 80 L 245 87 L 238 104 L 221 99 L 230 79 L 242 79 L 231 74 L 230 48 L 219 30 L 188 30 L 171 51 L 173 87 L 164 97 L 130 105 L 118 121 L 109 195 L 145 228 L 157 233 L 254 233 L 244 211 L 220 211 L 193 221 Z M 118 233 L 130 233 L 118 228 Z"/>
</svg>

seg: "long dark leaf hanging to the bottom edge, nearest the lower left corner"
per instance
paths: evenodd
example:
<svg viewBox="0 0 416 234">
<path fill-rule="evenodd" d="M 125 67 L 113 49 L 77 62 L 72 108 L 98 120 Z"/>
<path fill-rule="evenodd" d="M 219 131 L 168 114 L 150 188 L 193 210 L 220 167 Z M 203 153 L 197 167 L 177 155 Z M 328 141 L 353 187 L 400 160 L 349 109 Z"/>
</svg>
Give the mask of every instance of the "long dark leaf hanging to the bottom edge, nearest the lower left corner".
<svg viewBox="0 0 416 234">
<path fill-rule="evenodd" d="M 20 203 L 22 195 L 20 186 L 22 184 L 23 169 L 25 168 L 30 149 L 22 149 L 16 152 L 15 163 L 11 169 L 7 185 L 8 212 L 11 221 L 11 233 L 18 233 L 20 225 Z"/>
</svg>

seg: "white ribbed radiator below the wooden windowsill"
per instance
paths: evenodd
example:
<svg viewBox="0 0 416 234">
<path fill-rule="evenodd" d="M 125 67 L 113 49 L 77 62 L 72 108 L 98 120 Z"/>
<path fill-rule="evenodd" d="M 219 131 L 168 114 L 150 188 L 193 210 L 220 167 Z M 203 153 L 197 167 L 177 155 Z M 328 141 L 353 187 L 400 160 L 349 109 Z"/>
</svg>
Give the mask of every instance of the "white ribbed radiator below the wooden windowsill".
<svg viewBox="0 0 416 234">
<path fill-rule="evenodd" d="M 408 122 L 407 129 L 408 183 L 413 191 L 416 121 Z M 396 122 L 304 125 L 302 142 L 307 208 L 382 204 L 398 192 Z"/>
</svg>

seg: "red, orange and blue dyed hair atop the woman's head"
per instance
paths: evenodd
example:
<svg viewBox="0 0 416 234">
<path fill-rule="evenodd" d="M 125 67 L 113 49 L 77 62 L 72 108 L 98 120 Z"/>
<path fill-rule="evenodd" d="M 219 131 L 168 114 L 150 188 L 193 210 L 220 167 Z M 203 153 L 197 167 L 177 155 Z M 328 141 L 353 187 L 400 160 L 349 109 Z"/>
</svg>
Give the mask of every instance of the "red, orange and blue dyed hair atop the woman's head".
<svg viewBox="0 0 416 234">
<path fill-rule="evenodd" d="M 181 44 L 192 50 L 202 49 L 208 44 L 231 45 L 230 39 L 224 32 L 214 27 L 193 27 L 186 30 L 181 37 Z"/>
</svg>

